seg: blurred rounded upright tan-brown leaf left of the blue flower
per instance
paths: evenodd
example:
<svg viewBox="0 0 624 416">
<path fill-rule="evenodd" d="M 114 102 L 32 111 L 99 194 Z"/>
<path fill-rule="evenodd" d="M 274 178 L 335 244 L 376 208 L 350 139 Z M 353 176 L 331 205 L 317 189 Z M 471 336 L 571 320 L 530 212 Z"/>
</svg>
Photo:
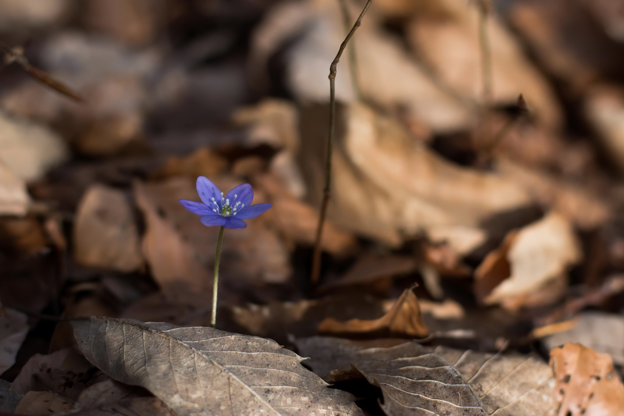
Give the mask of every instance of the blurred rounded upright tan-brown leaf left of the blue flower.
<svg viewBox="0 0 624 416">
<path fill-rule="evenodd" d="M 124 273 L 143 265 L 132 207 L 120 190 L 91 185 L 82 196 L 74 223 L 76 263 Z"/>
</svg>

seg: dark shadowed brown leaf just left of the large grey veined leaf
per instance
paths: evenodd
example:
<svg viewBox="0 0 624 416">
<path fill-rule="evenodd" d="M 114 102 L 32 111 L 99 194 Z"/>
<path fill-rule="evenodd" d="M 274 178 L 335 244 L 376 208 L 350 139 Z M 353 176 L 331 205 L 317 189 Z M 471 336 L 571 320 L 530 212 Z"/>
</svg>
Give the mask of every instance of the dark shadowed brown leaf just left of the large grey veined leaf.
<svg viewBox="0 0 624 416">
<path fill-rule="evenodd" d="M 71 348 L 46 356 L 35 354 L 13 381 L 14 390 L 19 394 L 47 390 L 76 400 L 89 382 L 90 369 L 93 366 Z"/>
</svg>

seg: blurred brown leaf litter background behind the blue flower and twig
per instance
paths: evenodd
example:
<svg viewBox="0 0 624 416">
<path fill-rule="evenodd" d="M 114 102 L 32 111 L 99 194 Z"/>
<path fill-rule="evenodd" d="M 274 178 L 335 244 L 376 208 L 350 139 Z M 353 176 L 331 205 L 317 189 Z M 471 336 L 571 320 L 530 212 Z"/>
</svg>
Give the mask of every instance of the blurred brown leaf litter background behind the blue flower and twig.
<svg viewBox="0 0 624 416">
<path fill-rule="evenodd" d="M 0 0 L 2 304 L 207 325 L 218 228 L 178 203 L 205 175 L 273 203 L 225 233 L 221 329 L 289 346 L 418 283 L 437 342 L 622 364 L 624 2 L 375 0 L 313 285 L 346 32 L 338 0 Z M 72 345 L 29 324 L 3 378 Z"/>
</svg>

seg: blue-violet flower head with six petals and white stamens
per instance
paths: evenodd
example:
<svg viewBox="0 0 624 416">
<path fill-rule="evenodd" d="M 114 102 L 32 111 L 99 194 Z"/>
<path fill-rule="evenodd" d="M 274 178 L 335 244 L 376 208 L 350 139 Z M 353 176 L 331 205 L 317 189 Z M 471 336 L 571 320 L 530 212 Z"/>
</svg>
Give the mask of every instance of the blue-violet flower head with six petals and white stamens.
<svg viewBox="0 0 624 416">
<path fill-rule="evenodd" d="M 201 202 L 180 200 L 180 203 L 193 214 L 201 215 L 203 225 L 220 225 L 225 228 L 245 228 L 243 220 L 256 218 L 271 208 L 271 204 L 251 205 L 253 189 L 248 183 L 235 186 L 227 195 L 217 188 L 207 177 L 197 178 L 197 193 Z"/>
</svg>

